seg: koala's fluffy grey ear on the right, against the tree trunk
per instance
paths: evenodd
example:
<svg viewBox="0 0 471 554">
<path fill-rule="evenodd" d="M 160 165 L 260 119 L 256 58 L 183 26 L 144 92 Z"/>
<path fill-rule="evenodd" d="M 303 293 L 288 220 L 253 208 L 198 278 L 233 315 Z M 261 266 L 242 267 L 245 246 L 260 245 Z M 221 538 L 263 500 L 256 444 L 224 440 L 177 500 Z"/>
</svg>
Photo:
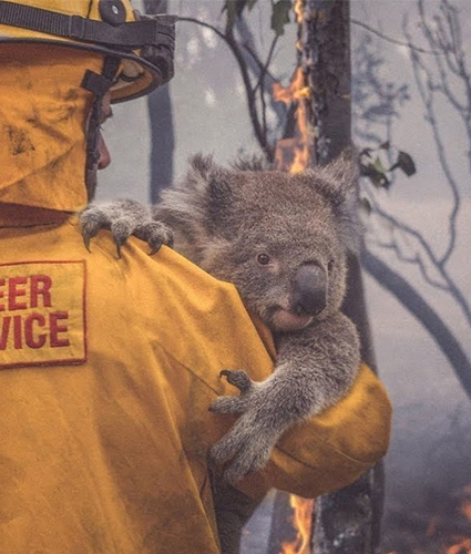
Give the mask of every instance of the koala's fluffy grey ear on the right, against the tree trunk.
<svg viewBox="0 0 471 554">
<path fill-rule="evenodd" d="M 331 203 L 344 244 L 358 253 L 362 226 L 359 214 L 358 164 L 354 153 L 345 151 L 322 167 L 311 170 L 314 183 Z"/>
</svg>

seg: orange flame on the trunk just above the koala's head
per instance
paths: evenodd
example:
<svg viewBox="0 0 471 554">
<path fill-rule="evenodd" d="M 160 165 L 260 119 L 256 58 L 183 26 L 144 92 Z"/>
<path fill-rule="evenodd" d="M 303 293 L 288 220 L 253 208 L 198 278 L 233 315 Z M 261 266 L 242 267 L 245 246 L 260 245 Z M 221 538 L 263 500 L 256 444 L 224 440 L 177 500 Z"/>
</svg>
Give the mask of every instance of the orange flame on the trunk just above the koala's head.
<svg viewBox="0 0 471 554">
<path fill-rule="evenodd" d="M 275 163 L 278 170 L 299 173 L 309 165 L 310 145 L 313 142 L 308 119 L 308 100 L 311 96 L 310 88 L 301 68 L 296 68 L 288 86 L 279 83 L 273 85 L 274 99 L 289 104 L 297 102 L 296 136 L 281 138 L 276 145 Z"/>
</svg>

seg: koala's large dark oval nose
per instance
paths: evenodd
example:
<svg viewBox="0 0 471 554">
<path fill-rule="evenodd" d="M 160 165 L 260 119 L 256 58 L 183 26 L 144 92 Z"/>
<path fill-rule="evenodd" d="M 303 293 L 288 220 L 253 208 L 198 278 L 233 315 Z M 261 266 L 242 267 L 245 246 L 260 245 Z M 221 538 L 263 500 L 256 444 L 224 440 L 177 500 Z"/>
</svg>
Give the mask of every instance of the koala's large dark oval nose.
<svg viewBox="0 0 471 554">
<path fill-rule="evenodd" d="M 317 316 L 327 304 L 327 275 L 317 264 L 301 266 L 295 278 L 293 307 L 298 315 Z"/>
</svg>

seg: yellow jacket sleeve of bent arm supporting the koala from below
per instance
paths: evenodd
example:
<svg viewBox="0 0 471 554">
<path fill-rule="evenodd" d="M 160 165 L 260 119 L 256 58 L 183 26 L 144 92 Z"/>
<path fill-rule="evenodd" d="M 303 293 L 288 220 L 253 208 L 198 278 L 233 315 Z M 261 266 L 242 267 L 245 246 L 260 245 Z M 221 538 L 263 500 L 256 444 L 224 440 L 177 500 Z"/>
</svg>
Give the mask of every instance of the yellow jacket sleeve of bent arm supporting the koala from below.
<svg viewBox="0 0 471 554">
<path fill-rule="evenodd" d="M 336 406 L 288 431 L 267 468 L 240 489 L 257 499 L 269 485 L 315 497 L 346 486 L 387 452 L 391 406 L 370 368 L 362 365 L 348 394 Z"/>
</svg>

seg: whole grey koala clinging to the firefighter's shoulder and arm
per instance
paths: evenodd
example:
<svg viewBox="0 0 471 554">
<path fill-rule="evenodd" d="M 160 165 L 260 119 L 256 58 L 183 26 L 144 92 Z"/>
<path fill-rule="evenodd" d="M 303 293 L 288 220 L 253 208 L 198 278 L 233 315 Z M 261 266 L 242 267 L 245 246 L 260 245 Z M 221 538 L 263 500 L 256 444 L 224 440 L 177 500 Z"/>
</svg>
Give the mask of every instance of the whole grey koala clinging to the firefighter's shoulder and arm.
<svg viewBox="0 0 471 554">
<path fill-rule="evenodd" d="M 91 206 L 82 227 L 85 242 L 107 227 L 119 245 L 134 234 L 154 250 L 168 244 L 171 229 L 175 249 L 233 283 L 273 331 L 272 376 L 254 382 L 242 369 L 223 370 L 240 394 L 211 407 L 239 414 L 211 451 L 229 483 L 262 469 L 288 428 L 348 391 L 360 365 L 359 339 L 340 306 L 347 252 L 358 247 L 360 224 L 356 165 L 347 155 L 296 175 L 226 170 L 198 155 L 156 206 Z"/>
</svg>

